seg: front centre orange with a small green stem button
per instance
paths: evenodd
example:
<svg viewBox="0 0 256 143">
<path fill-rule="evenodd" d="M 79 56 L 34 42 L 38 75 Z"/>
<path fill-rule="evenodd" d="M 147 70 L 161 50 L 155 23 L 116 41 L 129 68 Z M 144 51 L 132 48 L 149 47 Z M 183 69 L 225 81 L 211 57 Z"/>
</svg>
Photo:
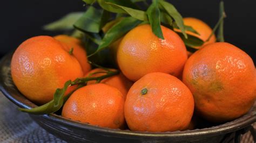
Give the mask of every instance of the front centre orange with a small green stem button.
<svg viewBox="0 0 256 143">
<path fill-rule="evenodd" d="M 143 89 L 147 89 L 144 95 Z M 182 131 L 190 124 L 193 111 L 190 90 L 165 73 L 150 73 L 135 82 L 124 106 L 126 123 L 132 131 Z"/>
</svg>

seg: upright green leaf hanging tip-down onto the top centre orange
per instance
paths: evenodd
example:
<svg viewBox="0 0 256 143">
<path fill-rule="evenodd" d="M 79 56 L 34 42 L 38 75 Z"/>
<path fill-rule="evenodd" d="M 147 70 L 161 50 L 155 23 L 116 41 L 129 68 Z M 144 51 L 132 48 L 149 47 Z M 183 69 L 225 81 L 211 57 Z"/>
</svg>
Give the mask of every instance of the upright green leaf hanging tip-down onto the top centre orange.
<svg viewBox="0 0 256 143">
<path fill-rule="evenodd" d="M 147 9 L 147 16 L 149 17 L 149 22 L 153 33 L 158 38 L 164 39 L 164 35 L 160 25 L 160 10 L 158 8 L 158 0 L 153 1 L 153 3 Z"/>
</svg>

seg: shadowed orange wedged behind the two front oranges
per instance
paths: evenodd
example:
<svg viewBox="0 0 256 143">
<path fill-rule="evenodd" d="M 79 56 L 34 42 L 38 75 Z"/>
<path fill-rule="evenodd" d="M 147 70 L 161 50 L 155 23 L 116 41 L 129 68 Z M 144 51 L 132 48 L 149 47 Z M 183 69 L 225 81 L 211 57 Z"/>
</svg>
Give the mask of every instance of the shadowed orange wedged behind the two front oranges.
<svg viewBox="0 0 256 143">
<path fill-rule="evenodd" d="M 111 70 L 115 70 L 115 69 L 111 69 Z M 96 68 L 96 69 L 91 70 L 89 73 L 87 73 L 86 76 L 90 76 L 90 74 L 95 73 L 95 72 L 104 72 L 104 71 L 106 71 L 106 70 Z M 93 74 L 90 77 L 97 77 L 97 76 L 103 76 L 103 75 L 105 75 L 105 73 Z M 87 84 L 93 84 L 95 82 L 96 81 L 89 81 L 89 82 L 87 82 Z M 109 78 L 105 78 L 100 83 L 105 83 L 107 85 L 110 85 L 111 87 L 117 88 L 124 95 L 124 98 L 126 98 L 127 92 L 129 91 L 129 89 L 131 88 L 131 86 L 133 84 L 122 73 L 120 73 L 119 75 L 111 76 Z"/>
</svg>

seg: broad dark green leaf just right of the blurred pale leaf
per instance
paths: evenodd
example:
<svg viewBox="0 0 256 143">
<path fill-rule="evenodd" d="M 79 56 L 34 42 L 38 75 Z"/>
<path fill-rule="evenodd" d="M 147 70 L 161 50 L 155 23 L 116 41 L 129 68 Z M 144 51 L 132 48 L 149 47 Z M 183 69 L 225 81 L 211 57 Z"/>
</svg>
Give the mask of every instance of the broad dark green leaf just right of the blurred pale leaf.
<svg viewBox="0 0 256 143">
<path fill-rule="evenodd" d="M 98 10 L 90 6 L 84 15 L 77 20 L 74 26 L 82 31 L 98 33 L 109 18 L 109 12 Z"/>
</svg>

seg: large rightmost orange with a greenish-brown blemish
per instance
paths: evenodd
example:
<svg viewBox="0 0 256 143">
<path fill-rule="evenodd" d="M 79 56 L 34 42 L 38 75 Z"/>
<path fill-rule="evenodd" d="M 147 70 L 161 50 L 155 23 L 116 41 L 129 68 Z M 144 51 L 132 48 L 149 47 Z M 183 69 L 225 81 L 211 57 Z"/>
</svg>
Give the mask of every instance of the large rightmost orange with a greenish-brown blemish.
<svg viewBox="0 0 256 143">
<path fill-rule="evenodd" d="M 184 67 L 183 82 L 194 96 L 196 111 L 214 122 L 244 115 L 256 97 L 252 59 L 226 42 L 208 44 L 194 53 Z"/>
</svg>

